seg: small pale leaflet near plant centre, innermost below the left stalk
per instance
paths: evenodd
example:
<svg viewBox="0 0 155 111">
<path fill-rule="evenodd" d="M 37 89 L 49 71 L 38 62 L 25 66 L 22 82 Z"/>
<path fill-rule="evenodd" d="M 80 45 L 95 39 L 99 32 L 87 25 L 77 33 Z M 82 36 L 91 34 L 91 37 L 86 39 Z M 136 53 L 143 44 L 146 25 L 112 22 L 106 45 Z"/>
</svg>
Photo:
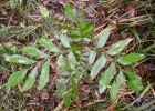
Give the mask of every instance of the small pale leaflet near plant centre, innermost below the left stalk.
<svg viewBox="0 0 155 111">
<path fill-rule="evenodd" d="M 68 56 L 68 58 L 69 58 L 70 68 L 71 69 L 74 69 L 75 65 L 76 65 L 76 59 L 75 59 L 74 53 L 73 52 L 70 52 L 69 56 Z"/>
</svg>

